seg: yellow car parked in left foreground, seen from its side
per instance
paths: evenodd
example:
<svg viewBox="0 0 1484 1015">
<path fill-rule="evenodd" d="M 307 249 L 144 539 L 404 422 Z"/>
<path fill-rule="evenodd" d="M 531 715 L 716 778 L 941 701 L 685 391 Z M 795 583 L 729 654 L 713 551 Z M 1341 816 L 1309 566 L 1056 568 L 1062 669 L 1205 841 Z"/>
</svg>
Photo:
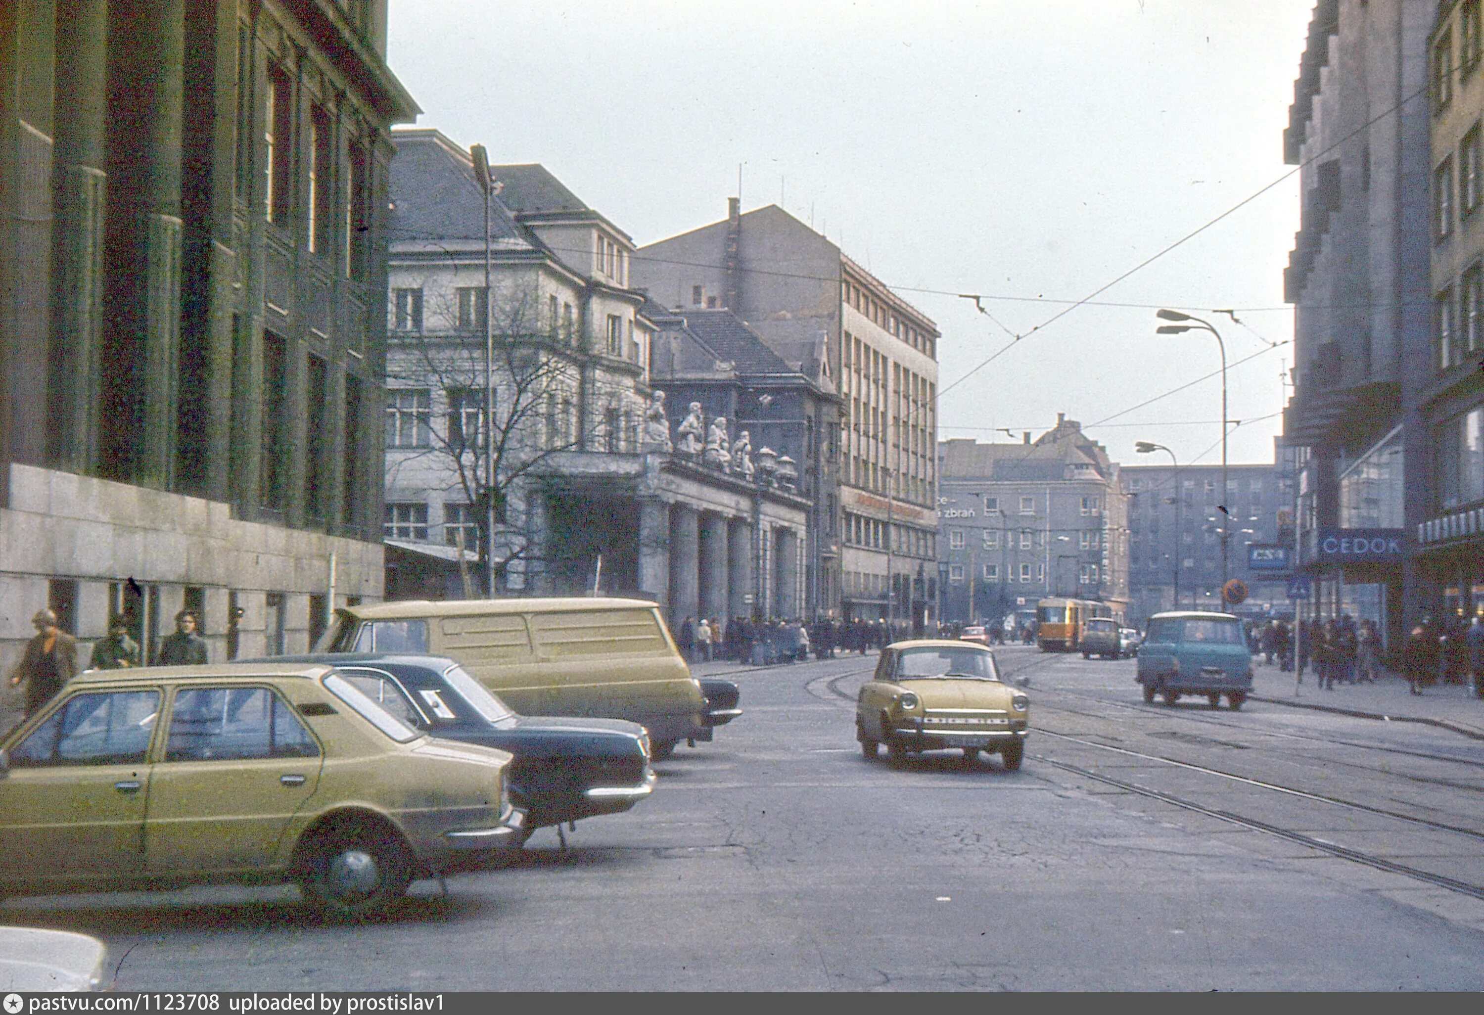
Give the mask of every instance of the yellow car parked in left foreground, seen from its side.
<svg viewBox="0 0 1484 1015">
<path fill-rule="evenodd" d="M 0 740 L 0 896 L 292 880 L 380 913 L 519 841 L 509 763 L 332 666 L 91 671 Z"/>
</svg>

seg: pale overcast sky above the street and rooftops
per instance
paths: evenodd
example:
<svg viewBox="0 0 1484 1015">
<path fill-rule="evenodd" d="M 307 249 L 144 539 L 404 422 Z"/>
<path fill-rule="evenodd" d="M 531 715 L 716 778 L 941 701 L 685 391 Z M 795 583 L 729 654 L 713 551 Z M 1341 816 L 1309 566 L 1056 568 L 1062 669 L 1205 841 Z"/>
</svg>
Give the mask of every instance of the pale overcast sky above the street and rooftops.
<svg viewBox="0 0 1484 1015">
<path fill-rule="evenodd" d="M 1125 463 L 1168 461 L 1140 439 L 1220 461 L 1218 375 L 1135 408 L 1220 367 L 1204 332 L 1155 335 L 1166 306 L 1260 353 L 1229 369 L 1230 460 L 1272 461 L 1297 177 L 1097 297 L 1138 306 L 1031 329 L 1293 169 L 1312 0 L 390 7 L 420 126 L 546 165 L 640 245 L 724 217 L 741 163 L 743 209 L 782 205 L 938 322 L 941 438 L 1064 411 Z"/>
</svg>

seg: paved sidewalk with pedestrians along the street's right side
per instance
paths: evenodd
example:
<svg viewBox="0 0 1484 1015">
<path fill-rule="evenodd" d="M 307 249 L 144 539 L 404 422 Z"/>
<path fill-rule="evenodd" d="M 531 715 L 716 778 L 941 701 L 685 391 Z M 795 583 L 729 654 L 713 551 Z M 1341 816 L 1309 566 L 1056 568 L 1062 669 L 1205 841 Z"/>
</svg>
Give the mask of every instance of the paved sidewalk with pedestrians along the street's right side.
<svg viewBox="0 0 1484 1015">
<path fill-rule="evenodd" d="M 1319 678 L 1304 671 L 1303 686 L 1294 696 L 1294 675 L 1269 666 L 1261 656 L 1252 656 L 1254 702 L 1309 708 L 1359 718 L 1391 723 L 1422 723 L 1453 730 L 1484 740 L 1484 700 L 1472 697 L 1466 684 L 1434 684 L 1422 694 L 1411 694 L 1407 681 L 1391 671 L 1382 671 L 1374 684 L 1336 684 L 1334 690 L 1319 690 Z"/>
</svg>

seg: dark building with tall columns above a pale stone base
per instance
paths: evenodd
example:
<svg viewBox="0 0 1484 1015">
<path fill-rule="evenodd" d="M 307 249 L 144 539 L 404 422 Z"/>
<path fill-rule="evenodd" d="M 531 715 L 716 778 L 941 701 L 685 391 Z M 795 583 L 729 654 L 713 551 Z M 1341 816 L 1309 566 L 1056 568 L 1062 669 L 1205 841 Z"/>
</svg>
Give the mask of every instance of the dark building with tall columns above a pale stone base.
<svg viewBox="0 0 1484 1015">
<path fill-rule="evenodd" d="M 304 648 L 381 594 L 386 0 L 7 12 L 0 662 L 47 602 Z"/>
</svg>

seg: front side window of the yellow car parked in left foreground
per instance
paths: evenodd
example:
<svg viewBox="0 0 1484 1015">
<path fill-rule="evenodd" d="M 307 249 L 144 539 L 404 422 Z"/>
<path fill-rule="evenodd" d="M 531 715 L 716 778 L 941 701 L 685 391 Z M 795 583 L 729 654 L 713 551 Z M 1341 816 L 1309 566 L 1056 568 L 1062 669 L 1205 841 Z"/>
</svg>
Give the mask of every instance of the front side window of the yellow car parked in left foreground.
<svg viewBox="0 0 1484 1015">
<path fill-rule="evenodd" d="M 10 764 L 142 763 L 159 714 L 157 690 L 74 694 L 10 751 Z"/>
</svg>

